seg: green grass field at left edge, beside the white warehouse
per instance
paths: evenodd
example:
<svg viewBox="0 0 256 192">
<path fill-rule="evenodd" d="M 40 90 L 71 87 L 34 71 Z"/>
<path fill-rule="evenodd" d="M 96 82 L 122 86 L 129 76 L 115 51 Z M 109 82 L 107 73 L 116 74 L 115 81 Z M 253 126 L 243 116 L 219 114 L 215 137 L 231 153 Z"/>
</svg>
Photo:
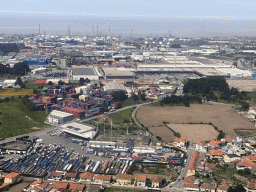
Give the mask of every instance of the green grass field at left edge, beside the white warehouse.
<svg viewBox="0 0 256 192">
<path fill-rule="evenodd" d="M 0 103 L 0 137 L 8 138 L 46 127 L 45 111 L 29 111 L 20 99 Z"/>
</svg>

